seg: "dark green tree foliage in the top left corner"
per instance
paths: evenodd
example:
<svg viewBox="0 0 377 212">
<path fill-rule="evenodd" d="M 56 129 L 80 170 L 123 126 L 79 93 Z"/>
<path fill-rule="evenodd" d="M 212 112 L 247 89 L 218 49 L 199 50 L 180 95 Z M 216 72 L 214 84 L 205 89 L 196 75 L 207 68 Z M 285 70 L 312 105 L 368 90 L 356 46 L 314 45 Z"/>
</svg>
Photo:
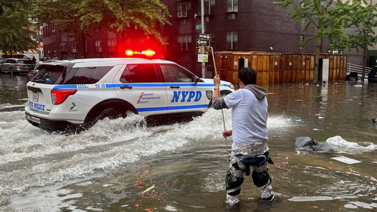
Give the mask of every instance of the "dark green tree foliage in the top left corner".
<svg viewBox="0 0 377 212">
<path fill-rule="evenodd" d="M 1 2 L 3 3 L 3 2 Z M 25 52 L 37 49 L 37 42 L 32 40 L 27 26 L 29 7 L 25 0 L 6 1 L 0 4 L 0 49 L 7 52 Z"/>
</svg>

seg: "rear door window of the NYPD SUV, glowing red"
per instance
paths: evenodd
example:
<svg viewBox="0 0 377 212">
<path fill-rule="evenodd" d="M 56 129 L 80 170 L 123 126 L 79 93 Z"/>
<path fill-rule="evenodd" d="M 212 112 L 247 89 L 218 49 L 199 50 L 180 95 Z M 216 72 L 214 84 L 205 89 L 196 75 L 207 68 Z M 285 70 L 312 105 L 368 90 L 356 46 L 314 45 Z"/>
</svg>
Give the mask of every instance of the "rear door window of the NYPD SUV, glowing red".
<svg viewBox="0 0 377 212">
<path fill-rule="evenodd" d="M 119 79 L 121 83 L 155 83 L 158 82 L 153 64 L 129 64 Z"/>
</svg>

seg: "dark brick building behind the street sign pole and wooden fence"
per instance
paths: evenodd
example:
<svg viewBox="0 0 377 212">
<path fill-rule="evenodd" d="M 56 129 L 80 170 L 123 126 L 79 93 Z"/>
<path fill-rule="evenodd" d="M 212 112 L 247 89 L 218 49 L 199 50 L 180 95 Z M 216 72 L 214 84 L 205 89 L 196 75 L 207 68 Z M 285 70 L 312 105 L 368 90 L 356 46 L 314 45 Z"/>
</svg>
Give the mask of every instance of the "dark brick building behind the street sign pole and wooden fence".
<svg viewBox="0 0 377 212">
<path fill-rule="evenodd" d="M 195 55 L 195 44 L 201 24 L 200 0 L 161 0 L 168 6 L 172 25 L 161 26 L 161 34 L 169 45 L 174 45 L 167 52 L 166 58 L 200 74 L 200 63 Z M 305 33 L 305 21 L 293 22 L 287 15 L 288 9 L 274 5 L 274 0 L 204 0 L 204 29 L 211 34 L 210 45 L 215 51 L 264 51 L 316 53 L 316 41 L 312 40 L 303 48 L 300 43 L 305 38 L 316 34 L 310 27 Z M 196 16 L 197 14 L 198 16 Z M 355 29 L 348 29 L 352 33 Z M 336 42 L 336 40 L 335 40 Z M 178 44 L 178 45 L 176 45 Z M 321 52 L 330 48 L 328 38 L 322 38 Z M 176 51 L 178 50 L 178 52 Z M 348 55 L 348 63 L 362 64 L 362 52 L 356 50 L 337 52 Z M 212 70 L 212 63 L 206 64 L 207 71 Z"/>
</svg>

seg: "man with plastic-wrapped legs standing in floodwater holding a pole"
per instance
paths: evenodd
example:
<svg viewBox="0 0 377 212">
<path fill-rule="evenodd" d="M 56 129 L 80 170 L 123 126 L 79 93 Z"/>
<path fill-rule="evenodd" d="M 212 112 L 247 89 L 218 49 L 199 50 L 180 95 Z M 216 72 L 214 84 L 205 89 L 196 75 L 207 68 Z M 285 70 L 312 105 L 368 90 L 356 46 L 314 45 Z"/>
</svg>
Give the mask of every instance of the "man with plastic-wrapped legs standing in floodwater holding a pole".
<svg viewBox="0 0 377 212">
<path fill-rule="evenodd" d="M 253 169 L 254 184 L 261 191 L 264 201 L 272 201 L 271 177 L 267 172 L 267 162 L 273 164 L 269 157 L 267 146 L 267 91 L 255 85 L 256 71 L 252 68 L 242 68 L 238 72 L 240 89 L 219 98 L 219 75 L 213 78 L 215 91 L 213 92 L 213 108 L 232 109 L 232 128 L 222 132 L 224 137 L 232 136 L 232 152 L 229 170 L 225 178 L 229 204 L 239 203 L 238 195 L 244 175 L 250 175 Z"/>
</svg>

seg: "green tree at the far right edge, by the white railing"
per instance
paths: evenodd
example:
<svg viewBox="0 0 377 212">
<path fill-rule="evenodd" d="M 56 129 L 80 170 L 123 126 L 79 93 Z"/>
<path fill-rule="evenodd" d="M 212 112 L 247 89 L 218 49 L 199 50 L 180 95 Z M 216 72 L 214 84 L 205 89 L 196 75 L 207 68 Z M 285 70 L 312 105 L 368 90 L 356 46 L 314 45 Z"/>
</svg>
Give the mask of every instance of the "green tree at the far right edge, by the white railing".
<svg viewBox="0 0 377 212">
<path fill-rule="evenodd" d="M 352 8 L 349 12 L 349 20 L 346 27 L 356 26 L 355 34 L 349 35 L 349 48 L 363 49 L 363 73 L 362 81 L 365 78 L 366 51 L 369 46 L 374 46 L 377 42 L 377 35 L 373 28 L 377 27 L 377 5 L 368 5 L 366 0 L 353 0 Z"/>
</svg>

